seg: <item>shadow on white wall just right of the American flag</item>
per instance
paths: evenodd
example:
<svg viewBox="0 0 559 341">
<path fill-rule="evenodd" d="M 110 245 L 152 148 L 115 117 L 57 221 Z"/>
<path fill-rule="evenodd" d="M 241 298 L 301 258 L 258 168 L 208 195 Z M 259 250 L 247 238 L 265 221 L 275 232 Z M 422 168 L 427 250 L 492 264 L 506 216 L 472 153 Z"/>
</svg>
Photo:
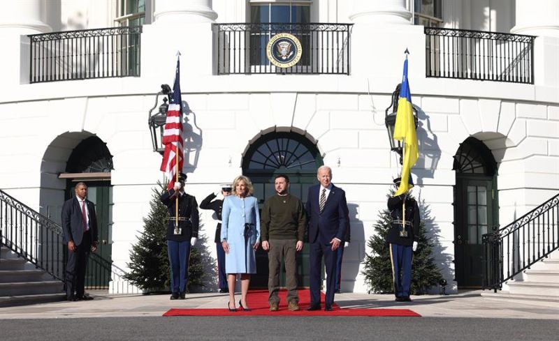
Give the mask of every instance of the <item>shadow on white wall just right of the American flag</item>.
<svg viewBox="0 0 559 341">
<path fill-rule="evenodd" d="M 202 130 L 196 125 L 196 113 L 192 112 L 187 101 L 182 101 L 184 116 L 184 166 L 183 172 L 194 172 L 198 167 L 198 158 L 202 149 Z"/>
</svg>

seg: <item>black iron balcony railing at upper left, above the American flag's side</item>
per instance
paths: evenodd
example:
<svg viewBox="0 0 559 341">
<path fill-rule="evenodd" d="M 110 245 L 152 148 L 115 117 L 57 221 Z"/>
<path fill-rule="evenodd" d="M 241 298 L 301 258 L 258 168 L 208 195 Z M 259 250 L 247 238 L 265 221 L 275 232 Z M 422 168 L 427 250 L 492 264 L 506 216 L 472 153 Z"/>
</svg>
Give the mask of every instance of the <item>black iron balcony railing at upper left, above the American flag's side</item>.
<svg viewBox="0 0 559 341">
<path fill-rule="evenodd" d="M 29 36 L 29 82 L 139 77 L 142 26 Z"/>
</svg>

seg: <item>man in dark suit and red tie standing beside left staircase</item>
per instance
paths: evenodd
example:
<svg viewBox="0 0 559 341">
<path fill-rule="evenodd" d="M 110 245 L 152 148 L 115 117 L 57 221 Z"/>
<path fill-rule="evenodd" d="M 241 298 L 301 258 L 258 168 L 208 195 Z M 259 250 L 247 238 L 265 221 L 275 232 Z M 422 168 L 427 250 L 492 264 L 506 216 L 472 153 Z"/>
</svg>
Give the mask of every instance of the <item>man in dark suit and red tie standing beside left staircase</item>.
<svg viewBox="0 0 559 341">
<path fill-rule="evenodd" d="M 66 264 L 66 298 L 68 301 L 92 300 L 85 296 L 85 269 L 89 252 L 97 250 L 97 217 L 95 205 L 86 199 L 87 185 L 75 185 L 75 197 L 62 206 L 64 243 L 68 245 Z"/>
</svg>

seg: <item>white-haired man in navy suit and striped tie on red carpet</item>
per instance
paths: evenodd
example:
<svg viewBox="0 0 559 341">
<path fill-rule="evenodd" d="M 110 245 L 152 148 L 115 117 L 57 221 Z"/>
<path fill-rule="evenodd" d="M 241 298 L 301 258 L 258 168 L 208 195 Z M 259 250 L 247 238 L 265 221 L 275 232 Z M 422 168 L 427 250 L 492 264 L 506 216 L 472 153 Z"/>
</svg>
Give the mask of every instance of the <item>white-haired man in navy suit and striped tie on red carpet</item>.
<svg viewBox="0 0 559 341">
<path fill-rule="evenodd" d="M 309 188 L 307 222 L 310 243 L 310 308 L 320 309 L 321 262 L 326 266 L 326 298 L 324 310 L 331 311 L 334 303 L 337 248 L 344 240 L 347 227 L 345 192 L 331 183 L 332 169 L 321 166 L 317 172 L 318 185 Z"/>
</svg>

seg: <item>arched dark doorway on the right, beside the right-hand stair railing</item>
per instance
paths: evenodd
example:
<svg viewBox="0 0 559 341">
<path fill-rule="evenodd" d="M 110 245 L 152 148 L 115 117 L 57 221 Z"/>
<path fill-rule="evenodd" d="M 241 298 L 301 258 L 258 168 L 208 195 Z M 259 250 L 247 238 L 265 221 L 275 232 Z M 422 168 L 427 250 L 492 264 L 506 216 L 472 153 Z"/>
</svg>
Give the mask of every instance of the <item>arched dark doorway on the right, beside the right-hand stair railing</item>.
<svg viewBox="0 0 559 341">
<path fill-rule="evenodd" d="M 498 227 L 497 162 L 468 137 L 454 156 L 454 263 L 458 287 L 481 287 L 481 236 Z"/>
</svg>

